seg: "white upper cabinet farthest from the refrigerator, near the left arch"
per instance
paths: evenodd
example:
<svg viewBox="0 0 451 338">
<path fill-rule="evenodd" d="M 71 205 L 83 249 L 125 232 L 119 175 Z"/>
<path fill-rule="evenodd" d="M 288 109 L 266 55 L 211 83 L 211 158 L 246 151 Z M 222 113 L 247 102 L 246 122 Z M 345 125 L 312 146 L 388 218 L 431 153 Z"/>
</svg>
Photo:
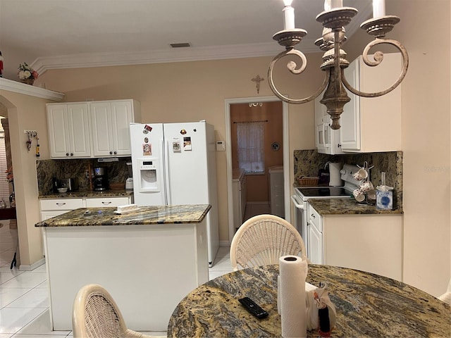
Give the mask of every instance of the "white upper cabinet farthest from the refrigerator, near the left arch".
<svg viewBox="0 0 451 338">
<path fill-rule="evenodd" d="M 47 104 L 52 158 L 91 156 L 88 104 Z"/>
</svg>

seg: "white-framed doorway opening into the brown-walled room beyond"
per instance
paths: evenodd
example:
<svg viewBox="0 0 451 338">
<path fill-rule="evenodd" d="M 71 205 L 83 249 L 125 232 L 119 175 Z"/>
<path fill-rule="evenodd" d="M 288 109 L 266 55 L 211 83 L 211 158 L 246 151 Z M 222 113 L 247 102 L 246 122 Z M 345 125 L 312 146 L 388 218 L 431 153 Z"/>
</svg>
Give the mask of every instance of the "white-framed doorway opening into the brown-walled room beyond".
<svg viewBox="0 0 451 338">
<path fill-rule="evenodd" d="M 260 106 L 261 105 L 261 106 Z M 283 199 L 285 219 L 290 222 L 290 157 L 288 135 L 288 104 L 280 101 L 276 96 L 248 97 L 226 100 L 226 158 L 228 177 L 228 223 L 229 242 L 236 230 L 234 214 L 237 201 L 234 203 L 233 177 L 238 167 L 236 129 L 238 123 L 262 122 L 266 125 L 264 144 L 266 147 L 266 164 L 263 173 L 249 173 L 247 182 L 248 206 L 254 213 L 271 213 L 268 201 L 270 197 L 269 168 L 283 165 Z M 276 128 L 276 130 L 273 130 Z M 277 132 L 281 133 L 277 136 Z M 234 170 L 235 168 L 235 170 Z M 258 171 L 258 170 L 257 170 Z M 249 214 L 249 210 L 247 212 Z"/>
</svg>

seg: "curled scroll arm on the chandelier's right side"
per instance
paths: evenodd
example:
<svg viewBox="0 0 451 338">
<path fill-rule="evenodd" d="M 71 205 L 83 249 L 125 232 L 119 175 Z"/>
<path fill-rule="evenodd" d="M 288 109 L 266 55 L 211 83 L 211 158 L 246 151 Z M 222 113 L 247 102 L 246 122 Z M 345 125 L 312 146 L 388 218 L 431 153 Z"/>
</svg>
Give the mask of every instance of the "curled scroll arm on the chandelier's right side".
<svg viewBox="0 0 451 338">
<path fill-rule="evenodd" d="M 400 73 L 400 76 L 397 78 L 396 82 L 392 84 L 387 89 L 383 90 L 382 92 L 376 92 L 376 93 L 366 93 L 366 92 L 360 92 L 359 90 L 355 89 L 350 85 L 349 82 L 347 82 L 345 78 L 344 70 L 341 70 L 341 78 L 342 83 L 345 84 L 345 87 L 352 92 L 353 94 L 356 94 L 358 96 L 362 97 L 377 97 L 377 96 L 383 96 L 389 92 L 391 92 L 393 89 L 395 89 L 401 82 L 404 80 L 404 77 L 407 74 L 407 68 L 409 68 L 409 54 L 407 54 L 407 50 L 405 49 L 400 42 L 393 40 L 393 39 L 385 39 L 385 38 L 376 38 L 372 42 L 366 45 L 364 52 L 362 54 L 362 59 L 366 65 L 369 65 L 370 67 L 374 67 L 376 65 L 381 64 L 383 61 L 383 53 L 381 51 L 376 51 L 374 54 L 374 61 L 369 60 L 368 53 L 373 46 L 376 46 L 377 44 L 391 44 L 395 46 L 402 54 L 402 70 Z"/>
</svg>

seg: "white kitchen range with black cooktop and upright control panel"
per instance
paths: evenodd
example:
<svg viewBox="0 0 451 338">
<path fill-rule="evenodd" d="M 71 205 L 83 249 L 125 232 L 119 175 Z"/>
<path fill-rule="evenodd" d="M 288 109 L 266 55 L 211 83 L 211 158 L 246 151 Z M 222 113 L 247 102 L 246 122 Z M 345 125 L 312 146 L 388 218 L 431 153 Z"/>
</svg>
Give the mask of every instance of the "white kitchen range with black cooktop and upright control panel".
<svg viewBox="0 0 451 338">
<path fill-rule="evenodd" d="M 295 194 L 291 196 L 295 206 L 295 225 L 297 231 L 304 239 L 306 251 L 309 252 L 309 234 L 307 231 L 307 203 L 309 199 L 343 199 L 351 198 L 352 191 L 357 188 L 358 182 L 354 180 L 354 173 L 359 170 L 357 165 L 345 164 L 340 171 L 341 180 L 345 181 L 343 187 L 299 187 L 295 188 Z"/>
</svg>

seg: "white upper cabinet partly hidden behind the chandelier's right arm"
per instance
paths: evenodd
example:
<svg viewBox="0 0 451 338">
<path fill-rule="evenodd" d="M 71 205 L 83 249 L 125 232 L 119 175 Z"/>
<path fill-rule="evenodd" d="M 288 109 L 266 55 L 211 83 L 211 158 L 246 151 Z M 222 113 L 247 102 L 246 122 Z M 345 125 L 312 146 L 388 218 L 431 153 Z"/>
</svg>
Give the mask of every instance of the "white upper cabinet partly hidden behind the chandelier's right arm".
<svg viewBox="0 0 451 338">
<path fill-rule="evenodd" d="M 371 60 L 370 56 L 370 60 Z M 361 92 L 381 92 L 402 70 L 400 53 L 384 54 L 381 65 L 367 66 L 362 56 L 345 69 L 345 77 Z M 398 151 L 401 148 L 401 85 L 383 96 L 368 98 L 348 91 L 351 101 L 340 116 L 340 146 L 346 152 Z M 318 137 L 318 135 L 316 136 Z"/>
</svg>

